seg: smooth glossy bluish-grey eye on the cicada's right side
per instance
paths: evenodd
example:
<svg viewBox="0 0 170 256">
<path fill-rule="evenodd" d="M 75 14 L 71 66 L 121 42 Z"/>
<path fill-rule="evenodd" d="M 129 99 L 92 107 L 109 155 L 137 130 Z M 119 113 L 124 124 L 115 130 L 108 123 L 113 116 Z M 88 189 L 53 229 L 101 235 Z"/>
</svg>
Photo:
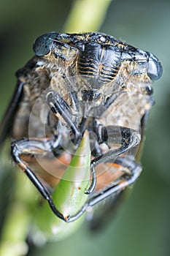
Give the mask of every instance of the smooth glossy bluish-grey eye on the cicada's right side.
<svg viewBox="0 0 170 256">
<path fill-rule="evenodd" d="M 153 55 L 152 53 L 148 53 L 148 69 L 147 69 L 147 75 L 152 80 L 158 80 L 161 78 L 163 69 L 161 66 L 161 62 Z"/>
</svg>

